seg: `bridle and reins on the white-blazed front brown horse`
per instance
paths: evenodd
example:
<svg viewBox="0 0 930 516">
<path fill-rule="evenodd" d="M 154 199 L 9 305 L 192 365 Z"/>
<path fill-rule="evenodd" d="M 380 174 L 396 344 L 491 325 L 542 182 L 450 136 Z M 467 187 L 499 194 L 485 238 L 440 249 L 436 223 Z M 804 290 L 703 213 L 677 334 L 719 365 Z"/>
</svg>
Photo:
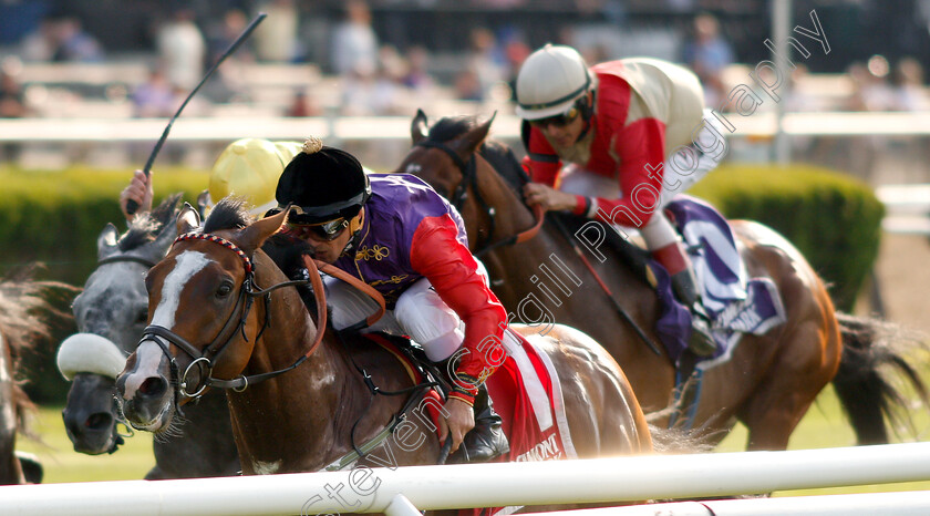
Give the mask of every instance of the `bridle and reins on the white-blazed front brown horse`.
<svg viewBox="0 0 930 516">
<path fill-rule="evenodd" d="M 178 236 L 175 240 L 175 244 L 184 240 L 210 241 L 236 252 L 236 255 L 242 260 L 242 264 L 245 265 L 246 277 L 242 280 L 242 285 L 239 288 L 239 297 L 236 300 L 236 306 L 232 308 L 229 318 L 226 320 L 226 322 L 224 323 L 219 332 L 216 334 L 216 337 L 214 337 L 210 343 L 203 351 L 194 347 L 190 342 L 188 342 L 179 334 L 165 327 L 149 324 L 143 331 L 140 344 L 142 344 L 142 342 L 146 340 L 154 341 L 162 349 L 162 352 L 169 359 L 172 374 L 170 381 L 173 384 L 177 385 L 177 389 L 175 390 L 175 403 L 177 403 L 178 395 L 183 395 L 185 398 L 190 399 L 197 399 L 200 395 L 203 395 L 204 390 L 206 390 L 208 386 L 215 386 L 219 389 L 232 389 L 236 392 L 242 392 L 249 385 L 254 385 L 256 383 L 264 382 L 265 380 L 275 378 L 279 374 L 283 374 L 299 367 L 301 363 L 303 363 L 304 360 L 310 358 L 310 355 L 322 341 L 323 333 L 327 328 L 326 293 L 323 290 L 323 283 L 320 279 L 319 269 L 317 268 L 316 260 L 312 260 L 310 257 L 304 256 L 304 265 L 307 266 L 309 271 L 309 279 L 283 281 L 268 287 L 267 289 L 261 289 L 255 282 L 255 266 L 252 264 L 251 258 L 249 258 L 245 251 L 239 249 L 239 247 L 232 244 L 231 241 L 211 234 L 186 233 L 184 235 Z M 265 329 L 268 327 L 268 303 L 271 300 L 270 292 L 279 288 L 291 287 L 297 285 L 307 285 L 308 282 L 312 285 L 313 293 L 317 300 L 317 337 L 303 355 L 298 358 L 294 363 L 285 369 L 270 371 L 266 373 L 259 373 L 249 376 L 246 376 L 244 374 L 235 380 L 224 380 L 214 378 L 211 375 L 214 365 L 219 360 L 223 352 L 226 351 L 229 343 L 232 341 L 234 337 L 237 333 L 240 333 L 242 336 L 242 339 L 248 341 L 248 336 L 246 336 L 245 326 L 249 311 L 251 310 L 256 298 L 261 298 L 265 302 L 266 308 L 265 320 L 262 321 L 261 329 L 256 336 L 257 340 L 261 337 L 261 334 L 265 332 Z M 381 313 L 383 313 L 383 308 Z M 381 317 L 381 313 L 376 313 L 375 316 Z M 190 364 L 188 364 L 187 368 L 184 370 L 183 374 L 178 374 L 179 368 L 175 357 L 169 352 L 170 345 L 179 348 L 185 353 L 187 353 L 187 355 L 194 359 L 194 361 L 190 362 Z M 192 392 L 188 390 L 187 376 L 190 374 L 192 369 L 195 367 L 205 374 L 202 375 L 199 384 L 195 385 L 195 389 Z"/>
</svg>

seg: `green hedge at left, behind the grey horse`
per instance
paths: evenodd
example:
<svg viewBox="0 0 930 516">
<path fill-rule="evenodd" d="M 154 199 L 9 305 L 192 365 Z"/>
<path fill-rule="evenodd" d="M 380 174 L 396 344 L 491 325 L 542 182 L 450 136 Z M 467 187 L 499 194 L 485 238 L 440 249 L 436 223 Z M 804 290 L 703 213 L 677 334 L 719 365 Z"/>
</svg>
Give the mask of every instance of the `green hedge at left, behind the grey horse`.
<svg viewBox="0 0 930 516">
<path fill-rule="evenodd" d="M 156 199 L 184 192 L 192 204 L 207 186 L 206 172 L 166 169 L 155 174 Z M 0 275 L 34 261 L 44 264 L 38 279 L 83 286 L 96 268 L 96 239 L 106 223 L 122 233 L 120 192 L 132 171 L 72 168 L 63 172 L 22 172 L 0 167 Z M 70 311 L 71 300 L 55 302 Z M 52 338 L 23 357 L 25 389 L 37 403 L 64 403 L 69 384 L 55 367 L 58 344 L 76 327 L 55 324 Z"/>
</svg>

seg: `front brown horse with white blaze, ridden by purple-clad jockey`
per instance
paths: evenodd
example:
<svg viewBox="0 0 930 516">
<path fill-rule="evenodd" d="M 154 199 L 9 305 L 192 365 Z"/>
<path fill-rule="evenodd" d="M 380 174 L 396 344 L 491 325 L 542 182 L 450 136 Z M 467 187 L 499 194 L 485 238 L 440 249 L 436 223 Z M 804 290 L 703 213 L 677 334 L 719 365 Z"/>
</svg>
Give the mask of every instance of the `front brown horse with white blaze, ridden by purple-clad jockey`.
<svg viewBox="0 0 930 516">
<path fill-rule="evenodd" d="M 261 249 L 285 216 L 249 224 L 241 203 L 224 199 L 203 233 L 192 234 L 196 211 L 184 210 L 182 237 L 146 278 L 146 336 L 116 381 L 126 419 L 152 432 L 166 431 L 177 405 L 205 385 L 231 388 L 226 392 L 246 474 L 319 471 L 340 457 L 354 464 L 353 450 L 386 435 L 410 403 L 407 396 L 375 395 L 366 383 L 381 393 L 414 386 L 404 367 L 366 338 L 343 341 L 330 328 L 318 329 L 326 310 L 314 320 L 290 287 L 294 281 Z M 292 262 L 282 267 L 298 272 Z M 310 279 L 319 280 L 312 269 Z M 324 307 L 319 282 L 313 293 L 316 306 Z M 568 328 L 535 340 L 562 380 L 579 456 L 652 448 L 623 373 L 597 343 Z M 441 448 L 431 425 L 403 419 L 359 464 L 434 464 Z"/>
</svg>

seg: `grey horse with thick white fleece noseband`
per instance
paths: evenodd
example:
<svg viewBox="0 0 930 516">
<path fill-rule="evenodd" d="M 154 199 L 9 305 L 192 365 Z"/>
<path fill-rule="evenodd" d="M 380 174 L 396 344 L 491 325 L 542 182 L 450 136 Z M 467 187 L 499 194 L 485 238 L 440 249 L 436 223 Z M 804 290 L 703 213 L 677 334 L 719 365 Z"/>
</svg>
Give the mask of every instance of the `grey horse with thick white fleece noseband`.
<svg viewBox="0 0 930 516">
<path fill-rule="evenodd" d="M 174 221 L 179 199 L 179 195 L 170 196 L 151 214 L 137 216 L 122 237 L 110 224 L 97 238 L 97 268 L 72 303 L 79 333 L 65 339 L 58 352 L 59 369 L 71 381 L 62 417 L 76 452 L 114 453 L 123 443 L 114 382 L 145 328 L 145 274 L 165 257 L 177 236 Z M 197 432 L 156 440 L 155 466 L 145 478 L 238 473 L 238 454 L 223 393 L 205 395 L 189 412 L 188 424 Z"/>
</svg>

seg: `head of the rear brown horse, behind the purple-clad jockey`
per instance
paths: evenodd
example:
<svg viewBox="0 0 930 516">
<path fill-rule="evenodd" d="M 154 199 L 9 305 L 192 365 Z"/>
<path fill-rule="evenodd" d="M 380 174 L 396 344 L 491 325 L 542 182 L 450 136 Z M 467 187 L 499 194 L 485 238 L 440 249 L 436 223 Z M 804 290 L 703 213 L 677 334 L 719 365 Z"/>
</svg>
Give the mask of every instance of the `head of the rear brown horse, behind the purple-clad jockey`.
<svg viewBox="0 0 930 516">
<path fill-rule="evenodd" d="M 416 111 L 410 126 L 413 148 L 399 172 L 413 174 L 462 209 L 468 180 L 474 175 L 474 155 L 487 138 L 494 117 L 479 124 L 474 116 L 445 117 L 432 127 L 426 114 Z"/>
</svg>

